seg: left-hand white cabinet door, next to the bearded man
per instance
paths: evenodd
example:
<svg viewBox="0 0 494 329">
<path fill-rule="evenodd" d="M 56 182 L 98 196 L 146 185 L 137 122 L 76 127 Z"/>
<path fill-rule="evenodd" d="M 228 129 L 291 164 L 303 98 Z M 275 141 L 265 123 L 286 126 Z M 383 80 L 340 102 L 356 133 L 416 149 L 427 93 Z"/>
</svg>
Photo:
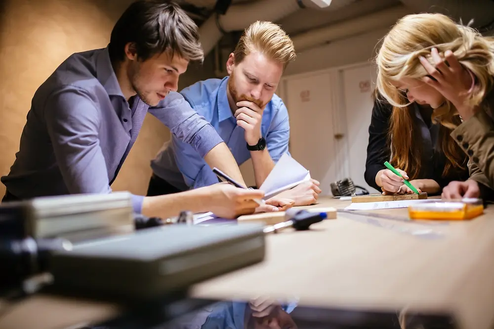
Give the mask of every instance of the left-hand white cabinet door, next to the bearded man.
<svg viewBox="0 0 494 329">
<path fill-rule="evenodd" d="M 329 73 L 293 76 L 284 96 L 290 117 L 290 153 L 331 194 L 336 180 Z"/>
</svg>

